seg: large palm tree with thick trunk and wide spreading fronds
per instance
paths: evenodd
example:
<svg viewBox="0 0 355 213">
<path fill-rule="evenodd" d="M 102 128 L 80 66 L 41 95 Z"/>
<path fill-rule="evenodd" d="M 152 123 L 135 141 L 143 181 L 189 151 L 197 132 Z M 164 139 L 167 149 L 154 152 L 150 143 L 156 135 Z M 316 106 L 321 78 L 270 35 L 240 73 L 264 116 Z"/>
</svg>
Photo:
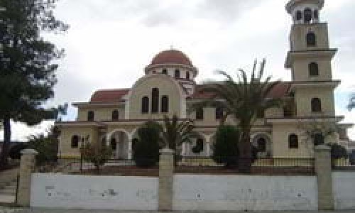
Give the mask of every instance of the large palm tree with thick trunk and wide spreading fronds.
<svg viewBox="0 0 355 213">
<path fill-rule="evenodd" d="M 280 82 L 271 82 L 271 76 L 263 80 L 265 63 L 266 60 L 263 60 L 257 72 L 257 62 L 254 62 L 250 79 L 244 70 L 239 70 L 236 81 L 226 72 L 218 71 L 226 80 L 204 84 L 201 92 L 212 94 L 212 98 L 192 106 L 193 109 L 205 106 L 222 107 L 224 109 L 223 121 L 227 116 L 233 116 L 238 121 L 237 126 L 241 133 L 239 169 L 246 173 L 251 168 L 251 127 L 257 119 L 258 112 L 281 104 L 280 99 L 268 98 L 268 94 Z"/>
</svg>

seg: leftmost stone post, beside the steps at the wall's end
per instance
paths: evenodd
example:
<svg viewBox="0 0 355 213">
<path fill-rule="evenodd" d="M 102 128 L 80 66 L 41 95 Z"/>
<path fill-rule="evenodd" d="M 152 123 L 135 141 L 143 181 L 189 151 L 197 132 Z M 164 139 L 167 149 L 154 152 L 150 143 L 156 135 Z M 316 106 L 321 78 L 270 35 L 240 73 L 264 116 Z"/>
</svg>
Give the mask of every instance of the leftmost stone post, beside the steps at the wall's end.
<svg viewBox="0 0 355 213">
<path fill-rule="evenodd" d="M 33 149 L 24 149 L 21 154 L 16 204 L 28 207 L 31 200 L 31 175 L 35 170 L 35 155 L 38 152 Z"/>
</svg>

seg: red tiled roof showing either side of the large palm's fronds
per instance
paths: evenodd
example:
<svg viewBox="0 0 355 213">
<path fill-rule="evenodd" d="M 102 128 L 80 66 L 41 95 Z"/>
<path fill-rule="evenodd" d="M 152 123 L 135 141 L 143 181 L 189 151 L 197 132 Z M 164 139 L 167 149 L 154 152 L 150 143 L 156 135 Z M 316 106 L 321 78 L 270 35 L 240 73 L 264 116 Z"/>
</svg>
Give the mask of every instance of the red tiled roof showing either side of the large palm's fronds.
<svg viewBox="0 0 355 213">
<path fill-rule="evenodd" d="M 270 92 L 268 95 L 269 98 L 281 98 L 285 97 L 285 95 L 288 93 L 288 89 L 290 89 L 290 83 L 287 82 L 281 82 L 280 84 L 277 84 Z M 209 99 L 213 97 L 213 93 L 211 92 L 201 92 L 201 86 L 202 85 L 196 85 L 195 87 L 195 93 L 192 94 L 192 99 Z"/>
</svg>

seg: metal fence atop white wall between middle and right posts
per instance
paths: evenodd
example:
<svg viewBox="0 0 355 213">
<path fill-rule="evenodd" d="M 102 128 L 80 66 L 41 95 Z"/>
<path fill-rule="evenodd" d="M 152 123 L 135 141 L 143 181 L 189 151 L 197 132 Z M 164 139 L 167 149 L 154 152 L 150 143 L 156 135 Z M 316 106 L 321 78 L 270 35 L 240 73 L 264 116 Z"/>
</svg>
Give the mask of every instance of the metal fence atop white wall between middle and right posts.
<svg viewBox="0 0 355 213">
<path fill-rule="evenodd" d="M 260 175 L 314 175 L 314 158 L 205 158 L 184 157 L 176 163 L 175 173 L 238 174 L 241 160 L 251 162 L 251 174 Z"/>
</svg>

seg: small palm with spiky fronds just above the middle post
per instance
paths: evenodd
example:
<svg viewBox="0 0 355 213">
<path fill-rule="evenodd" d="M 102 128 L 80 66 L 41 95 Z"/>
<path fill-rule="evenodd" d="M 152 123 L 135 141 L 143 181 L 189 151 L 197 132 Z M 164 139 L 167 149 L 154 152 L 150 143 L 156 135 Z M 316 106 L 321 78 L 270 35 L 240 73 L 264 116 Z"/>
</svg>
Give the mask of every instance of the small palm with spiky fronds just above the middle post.
<svg viewBox="0 0 355 213">
<path fill-rule="evenodd" d="M 160 135 L 163 146 L 177 152 L 183 143 L 192 143 L 193 138 L 197 138 L 194 131 L 195 125 L 192 120 L 179 121 L 178 116 L 174 115 L 171 119 L 164 116 L 163 125 L 160 125 Z"/>
</svg>

